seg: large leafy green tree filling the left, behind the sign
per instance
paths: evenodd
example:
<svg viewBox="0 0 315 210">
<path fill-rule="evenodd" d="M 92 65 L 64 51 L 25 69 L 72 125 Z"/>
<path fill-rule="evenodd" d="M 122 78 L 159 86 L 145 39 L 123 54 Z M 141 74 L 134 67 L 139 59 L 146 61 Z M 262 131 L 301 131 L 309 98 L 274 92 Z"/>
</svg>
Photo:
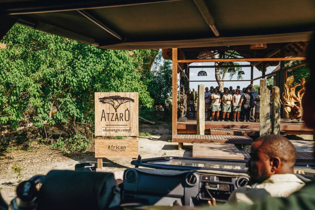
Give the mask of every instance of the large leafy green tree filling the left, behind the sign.
<svg viewBox="0 0 315 210">
<path fill-rule="evenodd" d="M 20 25 L 1 42 L 6 45 L 0 49 L 2 134 L 48 124 L 70 141 L 88 139 L 95 92 L 139 92 L 141 106 L 153 105 L 142 72 L 156 50 L 106 50 Z"/>
</svg>

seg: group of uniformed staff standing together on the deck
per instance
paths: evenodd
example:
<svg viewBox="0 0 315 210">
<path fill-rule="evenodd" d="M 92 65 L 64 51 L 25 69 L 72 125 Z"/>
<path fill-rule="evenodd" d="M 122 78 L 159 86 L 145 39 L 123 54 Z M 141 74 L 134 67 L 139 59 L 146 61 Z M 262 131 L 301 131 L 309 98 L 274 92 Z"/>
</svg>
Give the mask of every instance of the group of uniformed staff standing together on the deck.
<svg viewBox="0 0 315 210">
<path fill-rule="evenodd" d="M 250 117 L 258 121 L 260 111 L 260 91 L 256 93 L 253 86 L 243 88 L 240 87 L 234 90 L 232 86 L 230 88 L 224 88 L 224 92 L 219 91 L 219 87 L 205 88 L 204 92 L 205 109 L 207 111 L 207 120 L 220 121 L 219 117 L 222 116 L 221 121 L 240 121 L 240 116 L 244 122 L 250 122 Z M 233 116 L 230 118 L 230 113 L 233 111 Z M 222 114 L 221 114 L 221 113 Z M 233 118 L 233 119 L 232 119 Z"/>
</svg>

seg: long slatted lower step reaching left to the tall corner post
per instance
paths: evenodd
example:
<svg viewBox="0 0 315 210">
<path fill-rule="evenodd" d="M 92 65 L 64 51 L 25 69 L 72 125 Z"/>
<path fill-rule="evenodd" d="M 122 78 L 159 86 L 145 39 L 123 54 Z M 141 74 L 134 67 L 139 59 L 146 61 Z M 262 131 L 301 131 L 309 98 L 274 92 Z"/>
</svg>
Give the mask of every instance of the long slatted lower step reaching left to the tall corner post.
<svg viewBox="0 0 315 210">
<path fill-rule="evenodd" d="M 178 134 L 173 137 L 173 142 L 251 144 L 253 139 L 249 136 Z"/>
</svg>

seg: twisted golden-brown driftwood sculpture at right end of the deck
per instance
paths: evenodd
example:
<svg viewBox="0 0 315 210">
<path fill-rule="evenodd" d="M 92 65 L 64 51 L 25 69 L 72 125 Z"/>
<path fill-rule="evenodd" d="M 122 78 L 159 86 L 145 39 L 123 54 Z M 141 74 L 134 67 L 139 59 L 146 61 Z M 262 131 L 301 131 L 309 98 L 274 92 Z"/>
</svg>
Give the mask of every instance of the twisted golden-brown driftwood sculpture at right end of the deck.
<svg viewBox="0 0 315 210">
<path fill-rule="evenodd" d="M 294 120 L 297 119 L 300 121 L 303 115 L 303 108 L 302 108 L 302 97 L 306 91 L 304 88 L 305 80 L 304 78 L 300 83 L 292 85 L 294 81 L 294 77 L 291 76 L 287 79 L 287 82 L 284 83 L 284 92 L 282 94 L 282 103 L 284 104 L 285 111 L 289 114 L 290 119 Z M 298 86 L 302 86 L 302 89 L 299 90 L 297 96 L 295 95 L 295 88 Z"/>
</svg>

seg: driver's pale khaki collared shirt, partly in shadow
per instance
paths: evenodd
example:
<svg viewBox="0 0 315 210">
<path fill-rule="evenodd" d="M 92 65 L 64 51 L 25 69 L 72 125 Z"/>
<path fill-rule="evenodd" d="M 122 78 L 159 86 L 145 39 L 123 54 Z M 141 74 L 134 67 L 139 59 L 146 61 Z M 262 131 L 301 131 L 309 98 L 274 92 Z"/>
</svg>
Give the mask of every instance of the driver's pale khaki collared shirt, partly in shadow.
<svg viewBox="0 0 315 210">
<path fill-rule="evenodd" d="M 228 199 L 229 204 L 245 202 L 253 204 L 266 197 L 288 197 L 290 194 L 300 190 L 305 183 L 295 174 L 274 174 L 261 184 L 239 187 L 234 190 Z"/>
</svg>

